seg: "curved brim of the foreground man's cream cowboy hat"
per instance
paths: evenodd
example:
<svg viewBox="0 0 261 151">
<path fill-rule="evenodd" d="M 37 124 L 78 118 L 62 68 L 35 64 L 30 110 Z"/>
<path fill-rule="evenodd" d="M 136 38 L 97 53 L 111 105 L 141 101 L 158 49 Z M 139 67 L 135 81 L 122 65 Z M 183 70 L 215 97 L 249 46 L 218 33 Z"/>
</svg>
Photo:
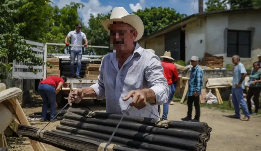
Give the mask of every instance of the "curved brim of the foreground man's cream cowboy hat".
<svg viewBox="0 0 261 151">
<path fill-rule="evenodd" d="M 129 15 L 124 16 L 122 18 L 100 20 L 100 23 L 103 25 L 104 29 L 107 32 L 110 32 L 109 26 L 110 26 L 110 24 L 113 24 L 114 21 L 122 21 L 122 22 L 129 24 L 132 27 L 134 27 L 136 29 L 137 33 L 138 33 L 135 41 L 141 39 L 141 37 L 143 36 L 144 24 L 143 24 L 143 22 L 142 22 L 142 20 L 139 16 L 134 15 L 134 14 L 129 14 Z"/>
</svg>

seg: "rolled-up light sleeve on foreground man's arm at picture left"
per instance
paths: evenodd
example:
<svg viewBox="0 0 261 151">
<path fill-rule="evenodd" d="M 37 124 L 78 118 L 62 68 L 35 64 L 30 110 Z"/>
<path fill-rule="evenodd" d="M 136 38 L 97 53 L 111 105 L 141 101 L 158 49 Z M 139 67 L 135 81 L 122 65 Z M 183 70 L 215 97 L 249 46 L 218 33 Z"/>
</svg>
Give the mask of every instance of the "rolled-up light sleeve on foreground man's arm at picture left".
<svg viewBox="0 0 261 151">
<path fill-rule="evenodd" d="M 102 62 L 103 62 L 103 60 L 102 60 Z M 100 64 L 98 82 L 90 86 L 91 88 L 93 88 L 94 92 L 96 93 L 98 100 L 103 100 L 106 98 L 105 88 L 104 88 L 104 84 L 103 84 L 103 63 L 102 62 Z"/>
</svg>

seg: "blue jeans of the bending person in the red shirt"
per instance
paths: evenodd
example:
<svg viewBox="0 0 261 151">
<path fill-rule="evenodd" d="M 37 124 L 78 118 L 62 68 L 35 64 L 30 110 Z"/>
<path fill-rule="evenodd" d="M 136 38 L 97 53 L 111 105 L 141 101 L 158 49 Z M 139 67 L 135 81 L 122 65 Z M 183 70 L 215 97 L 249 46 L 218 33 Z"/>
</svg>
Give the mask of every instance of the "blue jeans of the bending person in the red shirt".
<svg viewBox="0 0 261 151">
<path fill-rule="evenodd" d="M 50 103 L 50 119 L 55 116 L 56 90 L 52 85 L 40 84 L 38 91 L 42 97 L 42 119 L 46 120 L 47 108 Z"/>
</svg>

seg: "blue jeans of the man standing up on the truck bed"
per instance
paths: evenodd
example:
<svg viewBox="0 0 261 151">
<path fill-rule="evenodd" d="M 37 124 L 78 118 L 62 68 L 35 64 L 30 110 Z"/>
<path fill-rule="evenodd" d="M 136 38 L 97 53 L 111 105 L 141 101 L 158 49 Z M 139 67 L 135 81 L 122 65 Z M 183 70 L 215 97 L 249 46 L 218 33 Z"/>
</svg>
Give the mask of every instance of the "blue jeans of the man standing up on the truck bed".
<svg viewBox="0 0 261 151">
<path fill-rule="evenodd" d="M 71 50 L 71 74 L 74 74 L 74 62 L 77 57 L 77 71 L 76 75 L 80 75 L 81 71 L 81 60 L 82 60 L 83 51 L 82 50 Z"/>
</svg>

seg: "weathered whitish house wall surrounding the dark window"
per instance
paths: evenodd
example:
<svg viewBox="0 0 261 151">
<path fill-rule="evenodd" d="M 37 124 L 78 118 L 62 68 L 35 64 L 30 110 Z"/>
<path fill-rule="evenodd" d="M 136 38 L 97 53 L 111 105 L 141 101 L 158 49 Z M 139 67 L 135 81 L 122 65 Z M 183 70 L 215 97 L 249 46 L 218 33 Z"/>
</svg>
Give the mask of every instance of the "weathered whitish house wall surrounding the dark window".
<svg viewBox="0 0 261 151">
<path fill-rule="evenodd" d="M 242 63 L 249 69 L 256 55 L 261 53 L 261 12 L 240 14 L 218 14 L 186 25 L 186 62 L 190 57 L 196 55 L 203 57 L 204 53 L 224 57 L 224 66 L 232 63 L 227 56 L 227 30 L 252 31 L 252 53 L 251 58 L 242 58 Z"/>
</svg>

